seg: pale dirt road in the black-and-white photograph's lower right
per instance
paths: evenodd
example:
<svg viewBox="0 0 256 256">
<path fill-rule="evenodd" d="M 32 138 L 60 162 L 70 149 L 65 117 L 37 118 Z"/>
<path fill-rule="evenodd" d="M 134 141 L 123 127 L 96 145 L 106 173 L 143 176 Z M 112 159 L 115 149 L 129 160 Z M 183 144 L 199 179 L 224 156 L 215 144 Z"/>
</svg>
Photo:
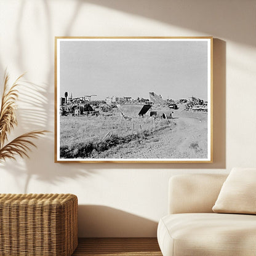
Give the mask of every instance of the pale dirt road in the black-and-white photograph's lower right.
<svg viewBox="0 0 256 256">
<path fill-rule="evenodd" d="M 168 126 L 147 138 L 110 148 L 104 158 L 207 158 L 207 112 L 175 111 L 169 120 Z"/>
</svg>

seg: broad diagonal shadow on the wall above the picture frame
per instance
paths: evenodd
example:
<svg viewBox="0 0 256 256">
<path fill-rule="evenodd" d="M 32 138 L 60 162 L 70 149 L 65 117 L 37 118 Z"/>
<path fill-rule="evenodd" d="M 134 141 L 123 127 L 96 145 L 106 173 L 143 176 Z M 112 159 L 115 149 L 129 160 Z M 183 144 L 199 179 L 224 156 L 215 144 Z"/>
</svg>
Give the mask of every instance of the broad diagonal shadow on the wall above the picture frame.
<svg viewBox="0 0 256 256">
<path fill-rule="evenodd" d="M 251 22 L 247 17 L 254 16 L 255 2 L 247 1 L 208 1 L 208 0 L 78 0 L 90 4 L 115 9 L 120 12 L 158 20 L 180 28 L 198 31 L 209 36 L 229 39 L 255 46 L 254 33 L 248 33 Z M 248 8 L 250 4 L 251 8 Z M 248 13 L 250 12 L 250 14 Z M 247 15 L 246 15 L 247 14 Z M 252 30 L 254 30 L 254 26 Z M 251 31 L 252 31 L 251 30 Z M 188 34 L 169 34 L 169 36 L 187 36 Z M 149 35 L 143 35 L 149 36 Z M 156 34 L 154 34 L 156 36 Z M 162 36 L 160 34 L 159 36 Z M 195 34 L 198 36 L 198 34 Z"/>
</svg>

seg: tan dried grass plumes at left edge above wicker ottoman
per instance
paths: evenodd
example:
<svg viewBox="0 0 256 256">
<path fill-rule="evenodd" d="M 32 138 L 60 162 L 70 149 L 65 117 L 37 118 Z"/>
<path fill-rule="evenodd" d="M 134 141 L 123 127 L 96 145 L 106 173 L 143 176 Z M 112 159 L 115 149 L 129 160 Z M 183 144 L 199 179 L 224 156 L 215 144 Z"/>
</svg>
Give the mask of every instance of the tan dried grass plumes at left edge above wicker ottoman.
<svg viewBox="0 0 256 256">
<path fill-rule="evenodd" d="M 23 74 L 9 87 L 9 75 L 7 72 L 4 75 L 4 90 L 2 92 L 0 110 L 0 162 L 5 161 L 7 158 L 15 159 L 17 155 L 22 158 L 28 157 L 28 151 L 31 150 L 31 146 L 36 147 L 31 140 L 48 132 L 47 130 L 33 130 L 8 142 L 7 135 L 18 124 L 15 115 L 17 109 L 16 100 L 18 98 L 17 86 L 22 77 Z"/>
</svg>

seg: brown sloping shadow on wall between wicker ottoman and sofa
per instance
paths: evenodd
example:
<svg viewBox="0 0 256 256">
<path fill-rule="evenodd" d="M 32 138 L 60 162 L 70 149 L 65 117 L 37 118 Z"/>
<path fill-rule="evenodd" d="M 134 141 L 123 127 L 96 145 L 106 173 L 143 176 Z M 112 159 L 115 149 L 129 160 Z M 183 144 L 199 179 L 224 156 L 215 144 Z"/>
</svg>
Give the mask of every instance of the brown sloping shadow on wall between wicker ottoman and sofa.
<svg viewBox="0 0 256 256">
<path fill-rule="evenodd" d="M 108 206 L 78 206 L 81 238 L 156 237 L 158 223 Z"/>
</svg>

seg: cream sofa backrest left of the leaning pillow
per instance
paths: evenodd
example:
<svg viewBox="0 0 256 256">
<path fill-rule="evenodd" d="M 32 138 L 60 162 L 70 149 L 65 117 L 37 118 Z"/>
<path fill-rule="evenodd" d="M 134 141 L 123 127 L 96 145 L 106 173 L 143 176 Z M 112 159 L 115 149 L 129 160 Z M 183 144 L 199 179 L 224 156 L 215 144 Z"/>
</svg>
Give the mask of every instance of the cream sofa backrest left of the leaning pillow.
<svg viewBox="0 0 256 256">
<path fill-rule="evenodd" d="M 227 174 L 185 174 L 169 180 L 169 214 L 213 212 Z"/>
</svg>

